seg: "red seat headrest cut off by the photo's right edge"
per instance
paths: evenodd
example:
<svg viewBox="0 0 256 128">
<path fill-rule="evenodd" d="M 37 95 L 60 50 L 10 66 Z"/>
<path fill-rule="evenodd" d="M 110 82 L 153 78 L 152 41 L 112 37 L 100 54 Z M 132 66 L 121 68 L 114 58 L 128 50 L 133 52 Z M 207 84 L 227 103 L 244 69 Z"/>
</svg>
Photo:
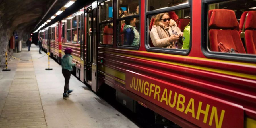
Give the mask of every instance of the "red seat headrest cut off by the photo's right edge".
<svg viewBox="0 0 256 128">
<path fill-rule="evenodd" d="M 249 11 L 245 21 L 245 29 L 256 29 L 256 11 Z"/>
</svg>

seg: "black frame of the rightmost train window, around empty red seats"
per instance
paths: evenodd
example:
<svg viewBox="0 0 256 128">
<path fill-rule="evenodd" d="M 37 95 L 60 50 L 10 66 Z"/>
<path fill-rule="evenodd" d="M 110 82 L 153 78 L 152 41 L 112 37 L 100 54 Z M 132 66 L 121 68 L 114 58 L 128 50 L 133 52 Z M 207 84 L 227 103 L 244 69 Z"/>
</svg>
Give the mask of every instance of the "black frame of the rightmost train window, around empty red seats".
<svg viewBox="0 0 256 128">
<path fill-rule="evenodd" d="M 230 1 L 230 0 L 227 0 Z M 221 0 L 203 0 L 202 1 L 202 20 L 201 20 L 201 50 L 207 58 L 225 59 L 233 61 L 245 61 L 245 62 L 256 62 L 256 55 L 253 54 L 242 54 L 242 53 L 224 53 L 210 51 L 208 48 L 209 37 L 208 37 L 208 5 L 213 3 L 224 2 Z M 206 29 L 205 29 L 206 28 Z M 205 30 L 204 30 L 205 29 Z"/>
</svg>

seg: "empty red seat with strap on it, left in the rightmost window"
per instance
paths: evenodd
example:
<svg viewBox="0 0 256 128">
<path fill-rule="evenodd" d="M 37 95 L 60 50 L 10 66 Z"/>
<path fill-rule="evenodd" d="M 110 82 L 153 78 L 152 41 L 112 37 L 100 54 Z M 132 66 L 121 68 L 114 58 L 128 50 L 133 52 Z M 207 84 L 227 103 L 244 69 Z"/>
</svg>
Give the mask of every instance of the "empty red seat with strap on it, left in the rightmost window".
<svg viewBox="0 0 256 128">
<path fill-rule="evenodd" d="M 209 11 L 210 50 L 245 53 L 237 28 L 235 12 L 227 9 Z M 233 49 L 233 50 L 232 50 Z"/>
</svg>

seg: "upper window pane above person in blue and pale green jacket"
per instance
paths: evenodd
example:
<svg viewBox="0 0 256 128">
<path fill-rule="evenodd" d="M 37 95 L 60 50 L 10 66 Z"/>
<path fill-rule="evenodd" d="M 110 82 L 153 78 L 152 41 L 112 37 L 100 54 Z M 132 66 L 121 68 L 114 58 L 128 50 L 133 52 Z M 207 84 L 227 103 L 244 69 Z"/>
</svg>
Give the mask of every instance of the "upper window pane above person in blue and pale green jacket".
<svg viewBox="0 0 256 128">
<path fill-rule="evenodd" d="M 117 11 L 118 18 L 123 18 L 127 13 L 139 14 L 139 1 L 138 0 L 118 0 Z"/>
</svg>

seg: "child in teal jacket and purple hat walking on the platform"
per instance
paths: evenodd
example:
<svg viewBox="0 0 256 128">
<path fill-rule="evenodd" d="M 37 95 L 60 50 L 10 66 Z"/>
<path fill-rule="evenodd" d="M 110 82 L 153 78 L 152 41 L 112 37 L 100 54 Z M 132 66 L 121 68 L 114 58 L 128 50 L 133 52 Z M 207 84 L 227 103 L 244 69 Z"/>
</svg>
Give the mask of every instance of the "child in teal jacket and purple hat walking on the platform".
<svg viewBox="0 0 256 128">
<path fill-rule="evenodd" d="M 63 98 L 66 98 L 69 96 L 68 94 L 73 91 L 73 90 L 69 90 L 69 79 L 70 79 L 71 71 L 73 70 L 72 67 L 77 65 L 77 63 L 72 63 L 72 56 L 70 55 L 72 53 L 72 49 L 66 48 L 64 52 L 65 52 L 65 55 L 61 60 L 61 66 L 62 66 L 62 74 L 65 78 Z"/>
</svg>

